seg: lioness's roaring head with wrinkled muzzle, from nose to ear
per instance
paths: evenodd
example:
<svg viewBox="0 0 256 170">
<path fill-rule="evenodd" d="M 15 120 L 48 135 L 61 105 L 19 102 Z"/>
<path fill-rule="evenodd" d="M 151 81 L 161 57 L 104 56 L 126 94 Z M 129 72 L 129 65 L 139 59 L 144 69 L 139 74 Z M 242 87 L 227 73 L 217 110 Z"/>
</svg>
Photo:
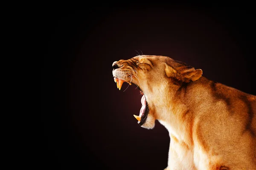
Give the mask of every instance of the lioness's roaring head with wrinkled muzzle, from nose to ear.
<svg viewBox="0 0 256 170">
<path fill-rule="evenodd" d="M 134 84 L 143 94 L 139 116 L 134 115 L 138 124 L 151 129 L 168 106 L 172 89 L 181 82 L 189 82 L 201 77 L 197 70 L 188 65 L 163 56 L 137 56 L 128 60 L 113 62 L 113 77 L 119 90 L 123 82 Z M 189 71 L 187 71 L 189 70 Z M 186 72 L 187 71 L 187 72 Z M 197 74 L 195 78 L 193 75 Z"/>
</svg>

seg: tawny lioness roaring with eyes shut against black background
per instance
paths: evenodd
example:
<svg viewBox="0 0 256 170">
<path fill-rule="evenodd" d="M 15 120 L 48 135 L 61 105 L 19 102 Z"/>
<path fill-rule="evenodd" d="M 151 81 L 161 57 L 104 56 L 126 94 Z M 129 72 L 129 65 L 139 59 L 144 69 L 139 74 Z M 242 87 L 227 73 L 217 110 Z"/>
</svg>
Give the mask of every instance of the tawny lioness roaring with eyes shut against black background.
<svg viewBox="0 0 256 170">
<path fill-rule="evenodd" d="M 183 62 L 142 55 L 113 62 L 123 82 L 143 94 L 141 127 L 157 119 L 169 131 L 165 170 L 256 170 L 256 96 L 214 82 Z"/>
</svg>

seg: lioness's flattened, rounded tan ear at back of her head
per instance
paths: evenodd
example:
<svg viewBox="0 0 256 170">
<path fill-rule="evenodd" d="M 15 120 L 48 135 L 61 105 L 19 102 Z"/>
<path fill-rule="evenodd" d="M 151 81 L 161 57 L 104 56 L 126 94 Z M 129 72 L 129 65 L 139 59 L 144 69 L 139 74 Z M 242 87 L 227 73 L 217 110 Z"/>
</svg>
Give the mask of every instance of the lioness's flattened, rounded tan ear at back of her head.
<svg viewBox="0 0 256 170">
<path fill-rule="evenodd" d="M 203 74 L 203 71 L 201 69 L 195 70 L 195 68 L 190 66 L 180 66 L 175 69 L 169 66 L 168 64 L 166 64 L 166 68 L 165 68 L 166 75 L 168 77 L 174 77 L 183 82 L 190 82 L 191 80 L 196 81 Z"/>
</svg>

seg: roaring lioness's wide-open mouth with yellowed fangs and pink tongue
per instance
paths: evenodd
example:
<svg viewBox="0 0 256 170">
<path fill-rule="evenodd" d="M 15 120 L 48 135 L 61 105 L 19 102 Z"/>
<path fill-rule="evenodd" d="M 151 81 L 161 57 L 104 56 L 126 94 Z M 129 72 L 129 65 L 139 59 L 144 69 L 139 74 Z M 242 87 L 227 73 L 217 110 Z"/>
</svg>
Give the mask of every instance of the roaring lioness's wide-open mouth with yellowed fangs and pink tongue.
<svg viewBox="0 0 256 170">
<path fill-rule="evenodd" d="M 122 84 L 124 82 L 126 82 L 125 80 L 122 80 L 122 79 L 118 79 L 116 77 L 114 77 L 114 81 L 116 82 L 116 86 L 119 90 L 121 90 L 121 87 L 122 87 Z M 131 82 L 127 82 L 129 85 L 131 84 L 134 84 L 134 83 L 131 83 Z M 135 85 L 135 84 L 134 84 Z M 137 85 L 136 85 L 137 86 Z M 147 116 L 148 116 L 148 112 L 149 112 L 149 109 L 148 109 L 148 102 L 146 100 L 146 97 L 143 93 L 143 91 L 141 91 L 140 87 L 137 87 L 139 90 L 140 90 L 140 93 L 143 95 L 142 98 L 141 98 L 141 108 L 140 108 L 140 114 L 139 116 L 137 115 L 134 115 L 134 117 L 138 120 L 138 124 L 141 126 L 144 124 L 145 120 L 147 119 Z"/>
</svg>

